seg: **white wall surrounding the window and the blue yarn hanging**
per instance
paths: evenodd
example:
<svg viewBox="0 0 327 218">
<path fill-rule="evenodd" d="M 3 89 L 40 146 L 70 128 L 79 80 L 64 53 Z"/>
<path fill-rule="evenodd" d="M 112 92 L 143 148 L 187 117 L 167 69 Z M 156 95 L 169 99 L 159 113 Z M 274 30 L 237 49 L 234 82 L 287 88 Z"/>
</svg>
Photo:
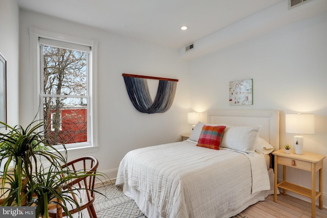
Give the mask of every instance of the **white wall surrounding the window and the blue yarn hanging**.
<svg viewBox="0 0 327 218">
<path fill-rule="evenodd" d="M 98 52 L 98 152 L 69 152 L 69 159 L 92 155 L 99 159 L 99 170 L 116 176 L 124 155 L 133 149 L 180 140 L 191 128 L 186 122 L 190 109 L 189 62 L 178 52 L 145 41 L 111 34 L 31 11 L 20 10 L 20 123 L 32 120 L 32 78 L 29 67 L 29 27 L 99 42 Z M 175 100 L 165 113 L 144 114 L 130 102 L 123 73 L 179 79 Z M 156 92 L 156 81 L 148 81 Z M 34 114 L 35 115 L 35 114 Z"/>
</svg>

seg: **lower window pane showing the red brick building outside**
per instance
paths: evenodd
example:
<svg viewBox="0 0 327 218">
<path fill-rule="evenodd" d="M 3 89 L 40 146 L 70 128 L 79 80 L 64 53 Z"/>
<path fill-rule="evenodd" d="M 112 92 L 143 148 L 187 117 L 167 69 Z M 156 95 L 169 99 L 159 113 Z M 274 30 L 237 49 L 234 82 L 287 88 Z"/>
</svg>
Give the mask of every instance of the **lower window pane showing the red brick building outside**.
<svg viewBox="0 0 327 218">
<path fill-rule="evenodd" d="M 43 98 L 45 137 L 52 144 L 87 142 L 87 98 Z"/>
</svg>

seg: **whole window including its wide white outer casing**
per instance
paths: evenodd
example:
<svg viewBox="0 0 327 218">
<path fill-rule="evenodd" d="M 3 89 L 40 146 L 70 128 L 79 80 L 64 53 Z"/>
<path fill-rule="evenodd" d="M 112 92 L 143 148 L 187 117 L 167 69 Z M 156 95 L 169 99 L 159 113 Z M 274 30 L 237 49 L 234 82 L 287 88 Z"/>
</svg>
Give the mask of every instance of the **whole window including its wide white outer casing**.
<svg viewBox="0 0 327 218">
<path fill-rule="evenodd" d="M 34 111 L 53 145 L 97 147 L 97 41 L 30 28 Z M 38 57 L 38 58 L 35 58 Z M 51 137 L 50 137 L 51 136 Z"/>
</svg>

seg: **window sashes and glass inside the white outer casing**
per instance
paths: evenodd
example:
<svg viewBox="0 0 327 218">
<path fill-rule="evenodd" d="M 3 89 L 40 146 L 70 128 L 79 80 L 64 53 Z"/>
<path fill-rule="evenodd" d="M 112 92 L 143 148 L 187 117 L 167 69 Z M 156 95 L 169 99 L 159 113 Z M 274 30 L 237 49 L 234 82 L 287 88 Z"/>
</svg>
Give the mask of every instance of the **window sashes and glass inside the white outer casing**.
<svg viewBox="0 0 327 218">
<path fill-rule="evenodd" d="M 54 145 L 88 142 L 90 47 L 43 38 L 39 42 L 45 135 Z"/>
</svg>

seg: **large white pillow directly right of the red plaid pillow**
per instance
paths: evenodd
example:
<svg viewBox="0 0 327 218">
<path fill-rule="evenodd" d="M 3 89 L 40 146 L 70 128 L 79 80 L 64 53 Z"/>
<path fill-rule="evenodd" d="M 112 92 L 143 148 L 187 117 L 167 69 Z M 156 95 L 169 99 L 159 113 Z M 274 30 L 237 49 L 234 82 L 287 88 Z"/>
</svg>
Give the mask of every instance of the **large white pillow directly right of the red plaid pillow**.
<svg viewBox="0 0 327 218">
<path fill-rule="evenodd" d="M 261 126 L 226 126 L 220 147 L 253 154 Z"/>
</svg>

